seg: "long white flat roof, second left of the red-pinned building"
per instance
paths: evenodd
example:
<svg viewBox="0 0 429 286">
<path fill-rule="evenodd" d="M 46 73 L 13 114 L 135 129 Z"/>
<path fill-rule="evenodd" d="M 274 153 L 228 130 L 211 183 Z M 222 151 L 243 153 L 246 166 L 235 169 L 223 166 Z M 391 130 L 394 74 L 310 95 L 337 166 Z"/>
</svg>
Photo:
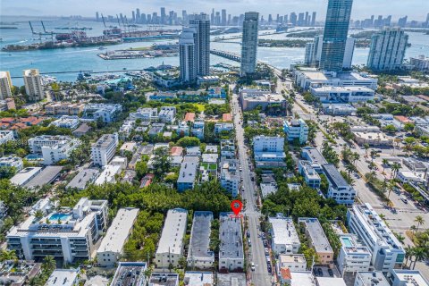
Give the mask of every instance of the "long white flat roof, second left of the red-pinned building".
<svg viewBox="0 0 429 286">
<path fill-rule="evenodd" d="M 168 210 L 156 253 L 181 255 L 183 236 L 187 226 L 187 215 L 188 211 L 183 208 Z"/>
</svg>

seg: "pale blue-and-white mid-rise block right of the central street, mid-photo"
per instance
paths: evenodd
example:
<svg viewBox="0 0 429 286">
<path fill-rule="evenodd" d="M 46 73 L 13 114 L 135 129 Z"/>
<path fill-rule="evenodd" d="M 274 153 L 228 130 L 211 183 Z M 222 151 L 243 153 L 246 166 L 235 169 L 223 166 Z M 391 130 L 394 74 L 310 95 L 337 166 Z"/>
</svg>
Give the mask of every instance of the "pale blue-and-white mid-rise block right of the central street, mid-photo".
<svg viewBox="0 0 429 286">
<path fill-rule="evenodd" d="M 253 153 L 255 161 L 282 162 L 286 157 L 284 153 L 284 138 L 267 137 L 265 135 L 253 138 Z"/>
</svg>

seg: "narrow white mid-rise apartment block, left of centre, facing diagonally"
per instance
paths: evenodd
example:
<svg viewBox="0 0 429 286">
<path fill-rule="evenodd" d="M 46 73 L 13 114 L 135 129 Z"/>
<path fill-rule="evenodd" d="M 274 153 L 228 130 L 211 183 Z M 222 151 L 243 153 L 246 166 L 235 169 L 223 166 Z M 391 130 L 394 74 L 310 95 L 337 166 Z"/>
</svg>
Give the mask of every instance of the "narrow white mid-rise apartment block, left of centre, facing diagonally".
<svg viewBox="0 0 429 286">
<path fill-rule="evenodd" d="M 105 166 L 109 164 L 110 160 L 114 157 L 116 147 L 119 144 L 118 134 L 105 134 L 97 143 L 91 146 L 91 158 L 95 165 Z"/>
</svg>

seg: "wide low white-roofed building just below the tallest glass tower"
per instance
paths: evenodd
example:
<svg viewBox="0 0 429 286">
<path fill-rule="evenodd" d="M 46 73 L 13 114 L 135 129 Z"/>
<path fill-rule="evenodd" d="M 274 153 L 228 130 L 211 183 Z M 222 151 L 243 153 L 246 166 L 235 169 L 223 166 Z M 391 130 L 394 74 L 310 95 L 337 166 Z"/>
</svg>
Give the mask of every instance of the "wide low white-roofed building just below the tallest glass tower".
<svg viewBox="0 0 429 286">
<path fill-rule="evenodd" d="M 324 86 L 310 88 L 313 96 L 324 104 L 332 103 L 354 103 L 374 100 L 375 91 L 366 87 L 332 87 Z"/>
</svg>

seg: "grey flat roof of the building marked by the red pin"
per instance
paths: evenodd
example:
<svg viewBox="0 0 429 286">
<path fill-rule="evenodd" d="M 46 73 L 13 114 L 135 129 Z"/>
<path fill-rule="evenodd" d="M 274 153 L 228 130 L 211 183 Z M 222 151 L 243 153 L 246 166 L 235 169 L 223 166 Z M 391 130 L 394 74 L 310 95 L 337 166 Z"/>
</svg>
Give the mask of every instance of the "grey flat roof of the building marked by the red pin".
<svg viewBox="0 0 429 286">
<path fill-rule="evenodd" d="M 243 240 L 241 235 L 241 220 L 240 218 L 232 218 L 233 213 L 221 213 L 219 221 L 221 223 L 219 229 L 219 259 L 222 258 L 242 258 Z"/>
</svg>

